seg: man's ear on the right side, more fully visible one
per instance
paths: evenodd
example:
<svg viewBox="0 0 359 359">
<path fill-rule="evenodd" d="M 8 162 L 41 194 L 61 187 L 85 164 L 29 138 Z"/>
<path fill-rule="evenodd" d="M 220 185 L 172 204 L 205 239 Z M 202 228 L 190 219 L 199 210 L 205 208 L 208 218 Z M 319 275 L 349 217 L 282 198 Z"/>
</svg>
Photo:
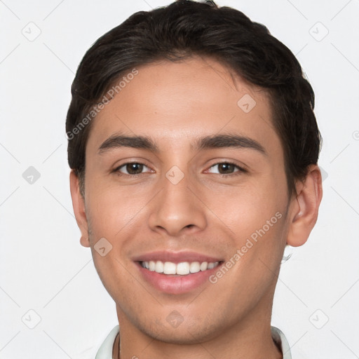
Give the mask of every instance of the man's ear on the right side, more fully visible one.
<svg viewBox="0 0 359 359">
<path fill-rule="evenodd" d="M 297 183 L 297 196 L 292 200 L 287 244 L 298 247 L 306 243 L 317 222 L 323 196 L 322 175 L 318 165 L 310 165 L 304 181 Z"/>
</svg>

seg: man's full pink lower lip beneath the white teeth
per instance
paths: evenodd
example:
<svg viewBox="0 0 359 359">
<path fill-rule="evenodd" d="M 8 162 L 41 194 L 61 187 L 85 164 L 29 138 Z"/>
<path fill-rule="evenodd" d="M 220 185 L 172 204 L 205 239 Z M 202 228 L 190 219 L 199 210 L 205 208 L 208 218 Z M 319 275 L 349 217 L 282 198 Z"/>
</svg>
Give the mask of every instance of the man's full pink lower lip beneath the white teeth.
<svg viewBox="0 0 359 359">
<path fill-rule="evenodd" d="M 207 269 L 206 271 L 190 273 L 187 274 L 187 276 L 171 276 L 163 273 L 157 273 L 156 271 L 149 271 L 149 269 L 144 268 L 139 262 L 136 262 L 136 264 L 147 282 L 153 285 L 157 290 L 168 294 L 191 292 L 191 290 L 200 287 L 205 282 L 210 283 L 208 278 L 213 273 L 218 271 L 221 266 L 221 263 L 219 263 L 219 266 Z"/>
</svg>

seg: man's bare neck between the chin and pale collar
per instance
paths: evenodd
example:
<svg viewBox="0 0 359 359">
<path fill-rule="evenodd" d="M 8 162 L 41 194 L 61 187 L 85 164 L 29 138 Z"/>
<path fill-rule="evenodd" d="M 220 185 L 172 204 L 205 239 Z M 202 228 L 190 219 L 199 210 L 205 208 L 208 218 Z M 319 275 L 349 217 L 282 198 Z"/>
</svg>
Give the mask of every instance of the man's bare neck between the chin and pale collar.
<svg viewBox="0 0 359 359">
<path fill-rule="evenodd" d="M 271 305 L 252 309 L 240 323 L 200 338 L 191 333 L 191 344 L 156 339 L 147 330 L 139 330 L 117 307 L 120 334 L 114 344 L 113 358 L 196 358 L 196 359 L 282 359 L 271 337 Z M 189 330 L 189 332 L 191 332 Z M 221 334 L 217 334 L 220 332 Z M 198 339 L 197 339 L 198 338 Z M 118 341 L 121 355 L 118 355 Z"/>
</svg>

